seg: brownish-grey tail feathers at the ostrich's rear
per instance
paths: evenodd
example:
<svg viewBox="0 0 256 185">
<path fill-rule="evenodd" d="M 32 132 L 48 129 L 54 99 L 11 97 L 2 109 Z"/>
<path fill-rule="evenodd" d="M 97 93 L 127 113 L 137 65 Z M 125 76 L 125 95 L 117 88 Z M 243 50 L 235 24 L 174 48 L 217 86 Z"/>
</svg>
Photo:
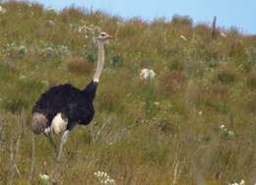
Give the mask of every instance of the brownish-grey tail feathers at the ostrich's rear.
<svg viewBox="0 0 256 185">
<path fill-rule="evenodd" d="M 47 118 L 40 113 L 32 114 L 32 132 L 34 134 L 40 134 L 44 132 L 47 127 Z"/>
</svg>

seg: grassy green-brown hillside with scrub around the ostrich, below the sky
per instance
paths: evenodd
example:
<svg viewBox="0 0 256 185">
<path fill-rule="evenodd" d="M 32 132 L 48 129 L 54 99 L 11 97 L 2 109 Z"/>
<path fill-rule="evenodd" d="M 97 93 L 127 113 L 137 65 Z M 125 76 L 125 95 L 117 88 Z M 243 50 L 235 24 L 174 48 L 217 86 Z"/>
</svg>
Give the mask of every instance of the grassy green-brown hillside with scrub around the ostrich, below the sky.
<svg viewBox="0 0 256 185">
<path fill-rule="evenodd" d="M 104 184 L 97 171 L 118 185 L 256 182 L 256 36 L 218 28 L 212 40 L 209 26 L 188 17 L 147 23 L 1 6 L 0 184 L 47 184 L 40 174 L 56 184 Z M 92 80 L 98 31 L 115 39 L 96 117 L 73 130 L 57 163 L 46 138 L 32 136 L 32 104 L 49 87 Z M 157 78 L 140 80 L 143 68 Z"/>
</svg>

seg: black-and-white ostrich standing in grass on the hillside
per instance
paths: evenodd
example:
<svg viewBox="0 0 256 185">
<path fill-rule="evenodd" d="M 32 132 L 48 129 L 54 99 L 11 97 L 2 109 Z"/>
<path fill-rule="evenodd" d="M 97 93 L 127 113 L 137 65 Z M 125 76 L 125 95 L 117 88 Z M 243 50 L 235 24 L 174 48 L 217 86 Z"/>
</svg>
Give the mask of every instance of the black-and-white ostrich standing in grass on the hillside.
<svg viewBox="0 0 256 185">
<path fill-rule="evenodd" d="M 95 115 L 94 99 L 98 79 L 104 64 L 104 43 L 112 38 L 106 32 L 100 32 L 97 40 L 98 58 L 94 80 L 84 89 L 79 90 L 70 84 L 59 85 L 42 93 L 32 107 L 32 132 L 43 133 L 55 147 L 51 133 L 63 133 L 57 154 L 61 158 L 70 131 L 77 125 L 88 125 Z"/>
</svg>

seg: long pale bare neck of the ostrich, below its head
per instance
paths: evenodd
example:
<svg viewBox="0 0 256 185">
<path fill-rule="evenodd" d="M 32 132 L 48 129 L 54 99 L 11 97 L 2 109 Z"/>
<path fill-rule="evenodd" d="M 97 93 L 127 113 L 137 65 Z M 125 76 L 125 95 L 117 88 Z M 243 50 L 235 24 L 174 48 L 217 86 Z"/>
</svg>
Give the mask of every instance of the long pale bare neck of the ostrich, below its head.
<svg viewBox="0 0 256 185">
<path fill-rule="evenodd" d="M 102 41 L 97 42 L 98 53 L 97 53 L 97 63 L 96 63 L 96 73 L 94 76 L 94 82 L 98 82 L 100 74 L 104 65 L 104 44 Z"/>
</svg>

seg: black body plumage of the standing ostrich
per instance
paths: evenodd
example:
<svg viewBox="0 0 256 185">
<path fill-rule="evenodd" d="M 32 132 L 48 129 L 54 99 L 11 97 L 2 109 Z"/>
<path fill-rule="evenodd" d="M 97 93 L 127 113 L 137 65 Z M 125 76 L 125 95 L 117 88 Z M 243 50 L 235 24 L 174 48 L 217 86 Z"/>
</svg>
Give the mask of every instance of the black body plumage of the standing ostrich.
<svg viewBox="0 0 256 185">
<path fill-rule="evenodd" d="M 95 115 L 94 99 L 96 82 L 91 82 L 84 90 L 70 84 L 59 85 L 42 93 L 32 107 L 32 114 L 43 114 L 49 127 L 57 113 L 62 113 L 68 120 L 67 129 L 71 130 L 77 123 L 89 124 Z"/>
</svg>

